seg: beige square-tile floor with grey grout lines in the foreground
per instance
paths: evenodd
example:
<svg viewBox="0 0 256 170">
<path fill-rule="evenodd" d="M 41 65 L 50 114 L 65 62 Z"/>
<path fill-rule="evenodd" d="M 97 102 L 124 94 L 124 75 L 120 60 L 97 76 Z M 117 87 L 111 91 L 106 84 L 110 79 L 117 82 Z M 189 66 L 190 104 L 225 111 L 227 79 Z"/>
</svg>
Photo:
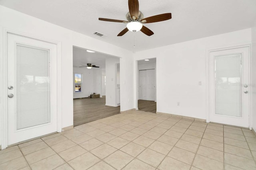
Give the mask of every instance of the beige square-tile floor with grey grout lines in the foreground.
<svg viewBox="0 0 256 170">
<path fill-rule="evenodd" d="M 0 151 L 0 170 L 256 170 L 248 129 L 131 111 Z"/>
</svg>

